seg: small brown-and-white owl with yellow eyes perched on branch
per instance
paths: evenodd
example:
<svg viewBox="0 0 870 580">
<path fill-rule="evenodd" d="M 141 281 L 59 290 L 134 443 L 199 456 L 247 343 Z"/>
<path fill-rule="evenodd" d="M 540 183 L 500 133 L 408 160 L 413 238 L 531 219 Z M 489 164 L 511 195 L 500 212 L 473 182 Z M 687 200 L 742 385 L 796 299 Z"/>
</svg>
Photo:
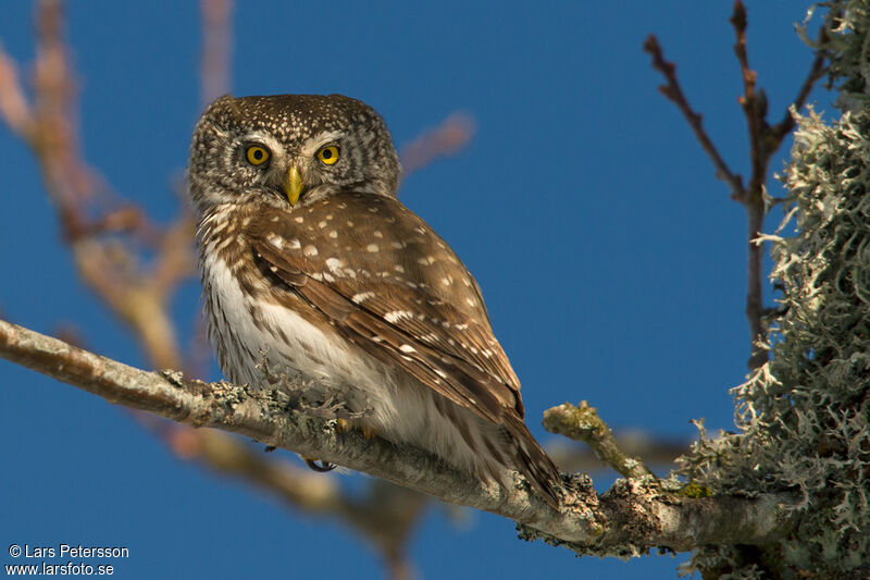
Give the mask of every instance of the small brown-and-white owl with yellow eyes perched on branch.
<svg viewBox="0 0 870 580">
<path fill-rule="evenodd" d="M 298 373 L 360 414 L 352 427 L 501 486 L 519 471 L 557 505 L 559 472 L 523 422 L 481 289 L 397 199 L 399 175 L 384 121 L 358 100 L 226 96 L 206 110 L 188 177 L 221 368 L 254 387 L 263 362 Z"/>
</svg>

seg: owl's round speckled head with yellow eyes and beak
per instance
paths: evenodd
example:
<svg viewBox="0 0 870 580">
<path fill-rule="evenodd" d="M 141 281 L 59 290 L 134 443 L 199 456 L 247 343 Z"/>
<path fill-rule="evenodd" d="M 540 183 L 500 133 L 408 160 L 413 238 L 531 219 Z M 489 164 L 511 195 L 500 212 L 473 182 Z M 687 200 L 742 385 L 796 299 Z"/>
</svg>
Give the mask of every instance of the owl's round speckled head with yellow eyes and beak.
<svg viewBox="0 0 870 580">
<path fill-rule="evenodd" d="M 343 189 L 395 196 L 399 160 L 383 119 L 341 95 L 221 97 L 190 143 L 190 195 L 304 206 Z"/>
</svg>

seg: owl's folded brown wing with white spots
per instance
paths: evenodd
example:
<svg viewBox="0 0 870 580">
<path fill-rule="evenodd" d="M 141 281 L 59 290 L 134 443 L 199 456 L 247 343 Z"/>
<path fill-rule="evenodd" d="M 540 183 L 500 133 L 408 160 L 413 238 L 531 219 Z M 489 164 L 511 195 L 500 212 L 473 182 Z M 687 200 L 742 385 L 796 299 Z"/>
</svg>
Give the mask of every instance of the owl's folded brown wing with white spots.
<svg viewBox="0 0 870 580">
<path fill-rule="evenodd" d="M 506 410 L 523 417 L 519 380 L 476 283 L 425 222 L 371 195 L 308 209 L 301 222 L 284 212 L 250 224 L 246 235 L 264 272 L 370 355 L 457 405 L 496 423 Z M 341 215 L 327 220 L 336 209 Z"/>
</svg>

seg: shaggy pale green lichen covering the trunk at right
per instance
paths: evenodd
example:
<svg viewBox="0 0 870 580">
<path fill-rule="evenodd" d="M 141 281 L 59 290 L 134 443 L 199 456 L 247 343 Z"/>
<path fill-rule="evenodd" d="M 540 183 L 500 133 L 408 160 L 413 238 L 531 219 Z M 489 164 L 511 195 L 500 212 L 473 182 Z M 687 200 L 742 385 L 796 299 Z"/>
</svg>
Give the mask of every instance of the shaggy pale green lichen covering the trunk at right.
<svg viewBox="0 0 870 580">
<path fill-rule="evenodd" d="M 686 569 L 719 578 L 870 578 L 870 3 L 822 5 L 843 115 L 797 118 L 787 218 L 766 236 L 783 292 L 771 360 L 733 390 L 739 432 L 701 437 L 683 470 L 714 493 L 803 501 L 776 545 L 697 551 Z"/>
</svg>

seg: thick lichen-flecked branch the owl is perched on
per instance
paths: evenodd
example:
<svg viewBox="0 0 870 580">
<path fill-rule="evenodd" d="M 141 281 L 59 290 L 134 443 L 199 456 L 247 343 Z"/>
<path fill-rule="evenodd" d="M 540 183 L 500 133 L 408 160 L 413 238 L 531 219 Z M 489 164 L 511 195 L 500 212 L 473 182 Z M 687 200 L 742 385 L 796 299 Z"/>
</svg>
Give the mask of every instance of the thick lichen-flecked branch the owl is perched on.
<svg viewBox="0 0 870 580">
<path fill-rule="evenodd" d="M 648 479 L 620 480 L 599 496 L 587 477 L 574 476 L 564 478 L 563 505 L 556 510 L 530 494 L 519 474 L 513 486 L 500 489 L 409 445 L 370 441 L 358 433 L 343 439 L 334 420 L 295 410 L 279 391 L 189 381 L 177 371 L 142 371 L 2 320 L 0 357 L 110 403 L 235 432 L 504 516 L 521 525 L 523 538 L 540 538 L 583 554 L 625 556 L 652 546 L 685 551 L 704 544 L 768 543 L 787 532 L 784 509 L 796 505 L 796 498 L 784 494 L 689 498 L 664 492 Z"/>
</svg>

